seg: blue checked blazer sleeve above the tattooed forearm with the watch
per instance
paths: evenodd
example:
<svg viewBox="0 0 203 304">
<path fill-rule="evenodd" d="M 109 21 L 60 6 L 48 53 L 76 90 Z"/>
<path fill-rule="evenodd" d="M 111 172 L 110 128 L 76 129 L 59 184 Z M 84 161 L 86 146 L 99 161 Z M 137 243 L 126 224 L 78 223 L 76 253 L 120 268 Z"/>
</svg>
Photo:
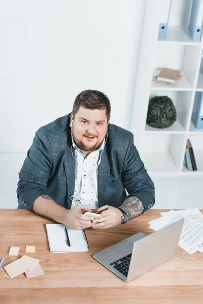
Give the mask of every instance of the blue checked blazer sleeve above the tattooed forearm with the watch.
<svg viewBox="0 0 203 304">
<path fill-rule="evenodd" d="M 154 205 L 154 183 L 145 169 L 136 146 L 134 146 L 133 135 L 129 140 L 121 179 L 127 193 L 129 194 L 127 197 L 137 196 L 143 203 L 144 211 L 150 209 Z M 127 197 L 125 197 L 125 199 Z"/>
</svg>

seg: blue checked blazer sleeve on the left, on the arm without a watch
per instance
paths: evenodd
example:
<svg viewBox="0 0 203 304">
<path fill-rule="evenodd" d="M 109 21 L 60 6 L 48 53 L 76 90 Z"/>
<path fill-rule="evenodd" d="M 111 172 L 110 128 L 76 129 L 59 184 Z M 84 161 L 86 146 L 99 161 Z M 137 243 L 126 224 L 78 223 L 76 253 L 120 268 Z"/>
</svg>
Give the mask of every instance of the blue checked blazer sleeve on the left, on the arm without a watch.
<svg viewBox="0 0 203 304">
<path fill-rule="evenodd" d="M 47 135 L 39 129 L 19 173 L 17 197 L 20 206 L 31 210 L 35 200 L 46 192 L 51 167 L 50 143 Z"/>
</svg>

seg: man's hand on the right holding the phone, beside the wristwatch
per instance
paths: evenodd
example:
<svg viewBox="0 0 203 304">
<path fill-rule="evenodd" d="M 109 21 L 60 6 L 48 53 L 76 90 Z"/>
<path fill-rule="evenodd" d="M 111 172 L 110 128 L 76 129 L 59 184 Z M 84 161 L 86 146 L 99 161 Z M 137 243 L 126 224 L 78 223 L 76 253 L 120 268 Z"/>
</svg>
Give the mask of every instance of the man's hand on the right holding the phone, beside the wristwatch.
<svg viewBox="0 0 203 304">
<path fill-rule="evenodd" d="M 121 224 L 122 212 L 112 206 L 103 206 L 96 213 L 101 215 L 100 218 L 92 221 L 93 229 L 109 229 Z"/>
</svg>

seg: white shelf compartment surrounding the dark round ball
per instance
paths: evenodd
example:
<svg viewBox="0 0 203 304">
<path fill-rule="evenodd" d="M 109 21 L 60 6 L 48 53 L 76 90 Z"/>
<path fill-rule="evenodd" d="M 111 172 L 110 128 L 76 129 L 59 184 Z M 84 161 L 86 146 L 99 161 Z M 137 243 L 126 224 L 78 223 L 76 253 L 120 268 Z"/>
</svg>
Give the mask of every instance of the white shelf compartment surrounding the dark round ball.
<svg viewBox="0 0 203 304">
<path fill-rule="evenodd" d="M 150 99 L 154 96 L 165 96 L 165 95 L 171 98 L 175 105 L 177 111 L 177 121 L 171 127 L 164 129 L 153 128 L 146 124 L 145 132 L 184 134 L 186 132 L 186 127 L 188 122 L 192 92 L 160 91 L 160 90 L 151 91 Z"/>
</svg>

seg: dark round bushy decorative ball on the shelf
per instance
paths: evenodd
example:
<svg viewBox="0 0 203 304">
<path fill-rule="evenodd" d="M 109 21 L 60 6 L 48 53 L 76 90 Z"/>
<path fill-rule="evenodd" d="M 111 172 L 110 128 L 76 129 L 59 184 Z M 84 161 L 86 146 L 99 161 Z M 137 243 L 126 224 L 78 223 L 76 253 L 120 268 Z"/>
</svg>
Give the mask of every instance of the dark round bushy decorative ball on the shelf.
<svg viewBox="0 0 203 304">
<path fill-rule="evenodd" d="M 154 128 L 168 128 L 172 126 L 177 119 L 176 108 L 173 101 L 168 96 L 155 96 L 150 99 L 147 124 Z"/>
</svg>

